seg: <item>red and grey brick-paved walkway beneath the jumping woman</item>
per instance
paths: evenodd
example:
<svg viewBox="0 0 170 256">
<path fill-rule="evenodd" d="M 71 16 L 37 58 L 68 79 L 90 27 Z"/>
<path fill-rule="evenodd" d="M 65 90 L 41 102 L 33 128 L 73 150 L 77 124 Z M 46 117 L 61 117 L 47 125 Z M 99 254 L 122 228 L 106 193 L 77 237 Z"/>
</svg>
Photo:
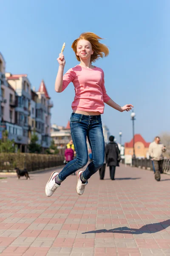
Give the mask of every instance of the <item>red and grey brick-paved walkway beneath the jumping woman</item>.
<svg viewBox="0 0 170 256">
<path fill-rule="evenodd" d="M 122 165 L 82 196 L 71 175 L 47 198 L 50 173 L 0 180 L 1 256 L 170 256 L 169 175 Z"/>
</svg>

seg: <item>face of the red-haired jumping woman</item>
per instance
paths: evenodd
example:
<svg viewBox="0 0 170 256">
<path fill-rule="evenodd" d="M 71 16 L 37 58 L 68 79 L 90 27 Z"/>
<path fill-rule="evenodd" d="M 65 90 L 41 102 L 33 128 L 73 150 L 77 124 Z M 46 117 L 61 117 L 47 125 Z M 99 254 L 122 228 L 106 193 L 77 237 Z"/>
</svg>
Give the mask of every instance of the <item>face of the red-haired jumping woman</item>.
<svg viewBox="0 0 170 256">
<path fill-rule="evenodd" d="M 91 55 L 94 53 L 91 47 L 91 43 L 85 39 L 81 39 L 77 43 L 77 56 L 80 59 L 91 58 Z"/>
</svg>

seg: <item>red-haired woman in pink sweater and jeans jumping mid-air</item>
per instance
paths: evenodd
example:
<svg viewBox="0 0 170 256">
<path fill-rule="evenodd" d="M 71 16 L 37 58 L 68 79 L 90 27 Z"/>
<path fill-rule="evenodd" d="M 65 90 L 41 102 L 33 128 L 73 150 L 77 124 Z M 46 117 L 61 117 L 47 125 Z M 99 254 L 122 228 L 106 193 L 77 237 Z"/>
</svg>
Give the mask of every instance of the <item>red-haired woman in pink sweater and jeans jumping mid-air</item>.
<svg viewBox="0 0 170 256">
<path fill-rule="evenodd" d="M 77 172 L 76 191 L 78 195 L 83 194 L 88 179 L 99 170 L 104 162 L 105 143 L 101 120 L 104 102 L 120 112 L 130 111 L 133 107 L 131 104 L 121 107 L 107 95 L 103 70 L 91 64 L 109 53 L 108 47 L 99 42 L 100 39 L 102 38 L 94 33 L 85 32 L 73 42 L 72 49 L 80 63 L 69 69 L 64 76 L 65 57 L 63 53 L 60 53 L 57 58 L 59 70 L 55 81 L 55 90 L 61 93 L 70 82 L 74 84 L 75 97 L 72 103 L 73 113 L 70 118 L 70 126 L 77 156 L 66 164 L 61 172 L 51 174 L 45 186 L 47 196 L 51 196 L 66 177 L 82 169 L 88 163 L 86 143 L 86 137 L 88 137 L 93 160 L 85 171 Z"/>
</svg>

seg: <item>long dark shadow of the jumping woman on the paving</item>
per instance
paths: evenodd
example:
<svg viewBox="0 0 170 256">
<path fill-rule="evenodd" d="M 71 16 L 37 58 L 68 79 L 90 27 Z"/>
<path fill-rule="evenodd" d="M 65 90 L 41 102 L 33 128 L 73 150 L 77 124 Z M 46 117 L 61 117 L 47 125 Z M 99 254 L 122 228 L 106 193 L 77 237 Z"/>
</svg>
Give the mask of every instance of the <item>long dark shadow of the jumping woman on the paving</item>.
<svg viewBox="0 0 170 256">
<path fill-rule="evenodd" d="M 139 229 L 136 228 L 129 228 L 129 227 L 117 227 L 110 230 L 93 230 L 93 231 L 87 231 L 82 234 L 90 234 L 90 233 L 121 233 L 121 234 L 133 234 L 133 235 L 139 235 L 143 233 L 156 233 L 161 230 L 166 229 L 170 226 L 170 219 L 167 221 L 161 221 L 158 223 L 152 223 L 152 224 L 146 224 Z"/>
</svg>

